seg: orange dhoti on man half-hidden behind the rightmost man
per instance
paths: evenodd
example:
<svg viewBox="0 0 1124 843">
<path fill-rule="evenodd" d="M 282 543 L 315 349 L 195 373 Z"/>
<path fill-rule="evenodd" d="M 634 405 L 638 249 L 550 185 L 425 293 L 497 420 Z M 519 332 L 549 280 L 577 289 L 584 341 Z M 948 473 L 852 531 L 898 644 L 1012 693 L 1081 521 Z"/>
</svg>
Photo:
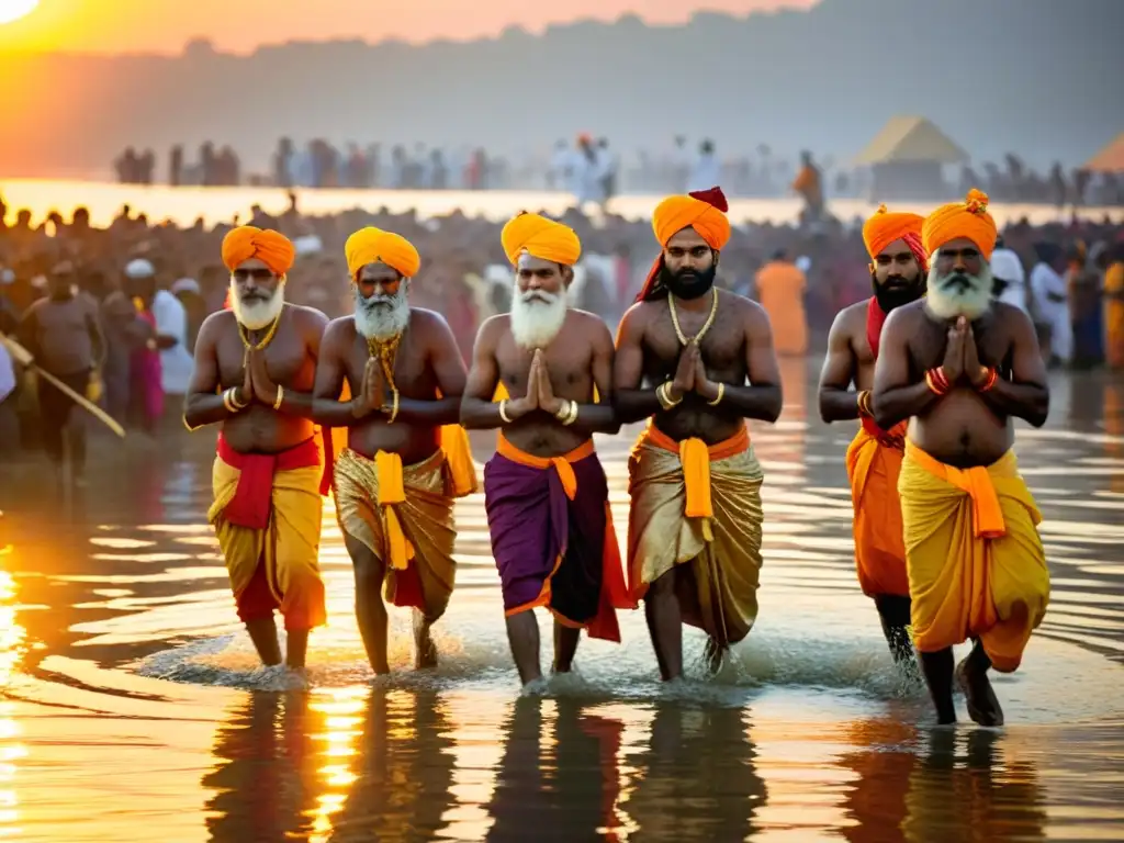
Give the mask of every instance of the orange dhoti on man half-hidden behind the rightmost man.
<svg viewBox="0 0 1124 843">
<path fill-rule="evenodd" d="M 898 501 L 904 436 L 904 423 L 885 433 L 864 419 L 846 452 L 854 505 L 854 563 L 868 597 L 909 595 Z"/>
</svg>

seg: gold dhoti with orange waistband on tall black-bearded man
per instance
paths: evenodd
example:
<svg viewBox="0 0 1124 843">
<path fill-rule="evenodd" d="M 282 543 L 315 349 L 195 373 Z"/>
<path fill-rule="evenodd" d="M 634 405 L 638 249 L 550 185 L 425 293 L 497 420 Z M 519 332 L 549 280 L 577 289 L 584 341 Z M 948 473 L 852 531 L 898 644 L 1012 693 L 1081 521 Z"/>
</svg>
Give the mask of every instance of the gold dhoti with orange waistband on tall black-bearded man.
<svg viewBox="0 0 1124 843">
<path fill-rule="evenodd" d="M 676 565 L 683 620 L 719 646 L 744 638 L 758 616 L 761 465 L 743 428 L 709 448 L 654 426 L 628 461 L 628 586 L 634 599 Z"/>
</svg>

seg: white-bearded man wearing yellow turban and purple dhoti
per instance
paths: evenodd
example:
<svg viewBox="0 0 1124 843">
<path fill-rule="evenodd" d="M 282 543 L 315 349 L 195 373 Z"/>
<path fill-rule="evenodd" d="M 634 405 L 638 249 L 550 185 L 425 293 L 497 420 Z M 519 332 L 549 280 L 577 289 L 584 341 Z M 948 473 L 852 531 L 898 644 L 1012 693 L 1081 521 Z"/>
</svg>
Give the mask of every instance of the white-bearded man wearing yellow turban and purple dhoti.
<svg viewBox="0 0 1124 843">
<path fill-rule="evenodd" d="M 501 238 L 515 266 L 511 312 L 480 326 L 461 422 L 500 428 L 484 505 L 511 654 L 533 691 L 542 685 L 535 608 L 554 616 L 554 671 L 564 673 L 581 629 L 619 642 L 615 609 L 631 607 L 591 438 L 618 428 L 614 351 L 605 323 L 566 303 L 578 235 L 520 214 Z"/>
</svg>

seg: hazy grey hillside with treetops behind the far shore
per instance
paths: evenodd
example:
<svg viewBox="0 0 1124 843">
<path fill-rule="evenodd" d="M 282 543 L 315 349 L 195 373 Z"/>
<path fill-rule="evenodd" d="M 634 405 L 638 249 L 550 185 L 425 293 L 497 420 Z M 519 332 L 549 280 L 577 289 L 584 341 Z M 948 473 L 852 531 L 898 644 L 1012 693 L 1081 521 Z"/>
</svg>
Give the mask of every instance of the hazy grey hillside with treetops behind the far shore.
<svg viewBox="0 0 1124 843">
<path fill-rule="evenodd" d="M 582 129 L 624 151 L 685 133 L 844 160 L 895 114 L 928 117 L 977 163 L 1072 166 L 1124 129 L 1122 31 L 1124 0 L 823 0 L 422 47 L 0 55 L 0 173 L 103 170 L 128 143 L 193 157 L 206 139 L 264 169 L 282 134 L 515 152 Z"/>
</svg>

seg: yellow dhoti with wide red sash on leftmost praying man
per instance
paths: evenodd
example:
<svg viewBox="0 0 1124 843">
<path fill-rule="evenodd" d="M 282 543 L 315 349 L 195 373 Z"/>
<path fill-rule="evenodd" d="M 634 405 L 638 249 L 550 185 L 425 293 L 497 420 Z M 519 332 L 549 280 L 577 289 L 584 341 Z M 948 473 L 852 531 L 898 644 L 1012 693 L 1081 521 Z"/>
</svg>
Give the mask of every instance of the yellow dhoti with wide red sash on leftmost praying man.
<svg viewBox="0 0 1124 843">
<path fill-rule="evenodd" d="M 242 454 L 219 435 L 211 474 L 215 502 L 207 514 L 215 527 L 230 588 L 243 622 L 279 608 L 287 629 L 311 629 L 326 619 L 320 579 L 319 437 L 280 454 Z M 268 600 L 251 589 L 262 568 Z"/>
</svg>

